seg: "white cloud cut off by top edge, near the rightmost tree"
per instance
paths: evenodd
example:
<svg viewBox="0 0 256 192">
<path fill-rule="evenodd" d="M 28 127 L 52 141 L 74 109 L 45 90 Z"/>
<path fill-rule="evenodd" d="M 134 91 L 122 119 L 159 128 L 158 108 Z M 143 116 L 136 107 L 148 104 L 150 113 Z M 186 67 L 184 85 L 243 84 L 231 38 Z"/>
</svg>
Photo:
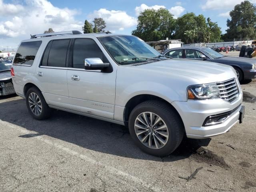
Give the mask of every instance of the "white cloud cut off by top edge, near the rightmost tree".
<svg viewBox="0 0 256 192">
<path fill-rule="evenodd" d="M 244 0 L 207 0 L 204 5 L 202 5 L 203 10 L 224 10 L 232 9 L 236 4 L 240 4 Z M 256 0 L 249 0 L 252 3 L 256 3 Z"/>
</svg>

